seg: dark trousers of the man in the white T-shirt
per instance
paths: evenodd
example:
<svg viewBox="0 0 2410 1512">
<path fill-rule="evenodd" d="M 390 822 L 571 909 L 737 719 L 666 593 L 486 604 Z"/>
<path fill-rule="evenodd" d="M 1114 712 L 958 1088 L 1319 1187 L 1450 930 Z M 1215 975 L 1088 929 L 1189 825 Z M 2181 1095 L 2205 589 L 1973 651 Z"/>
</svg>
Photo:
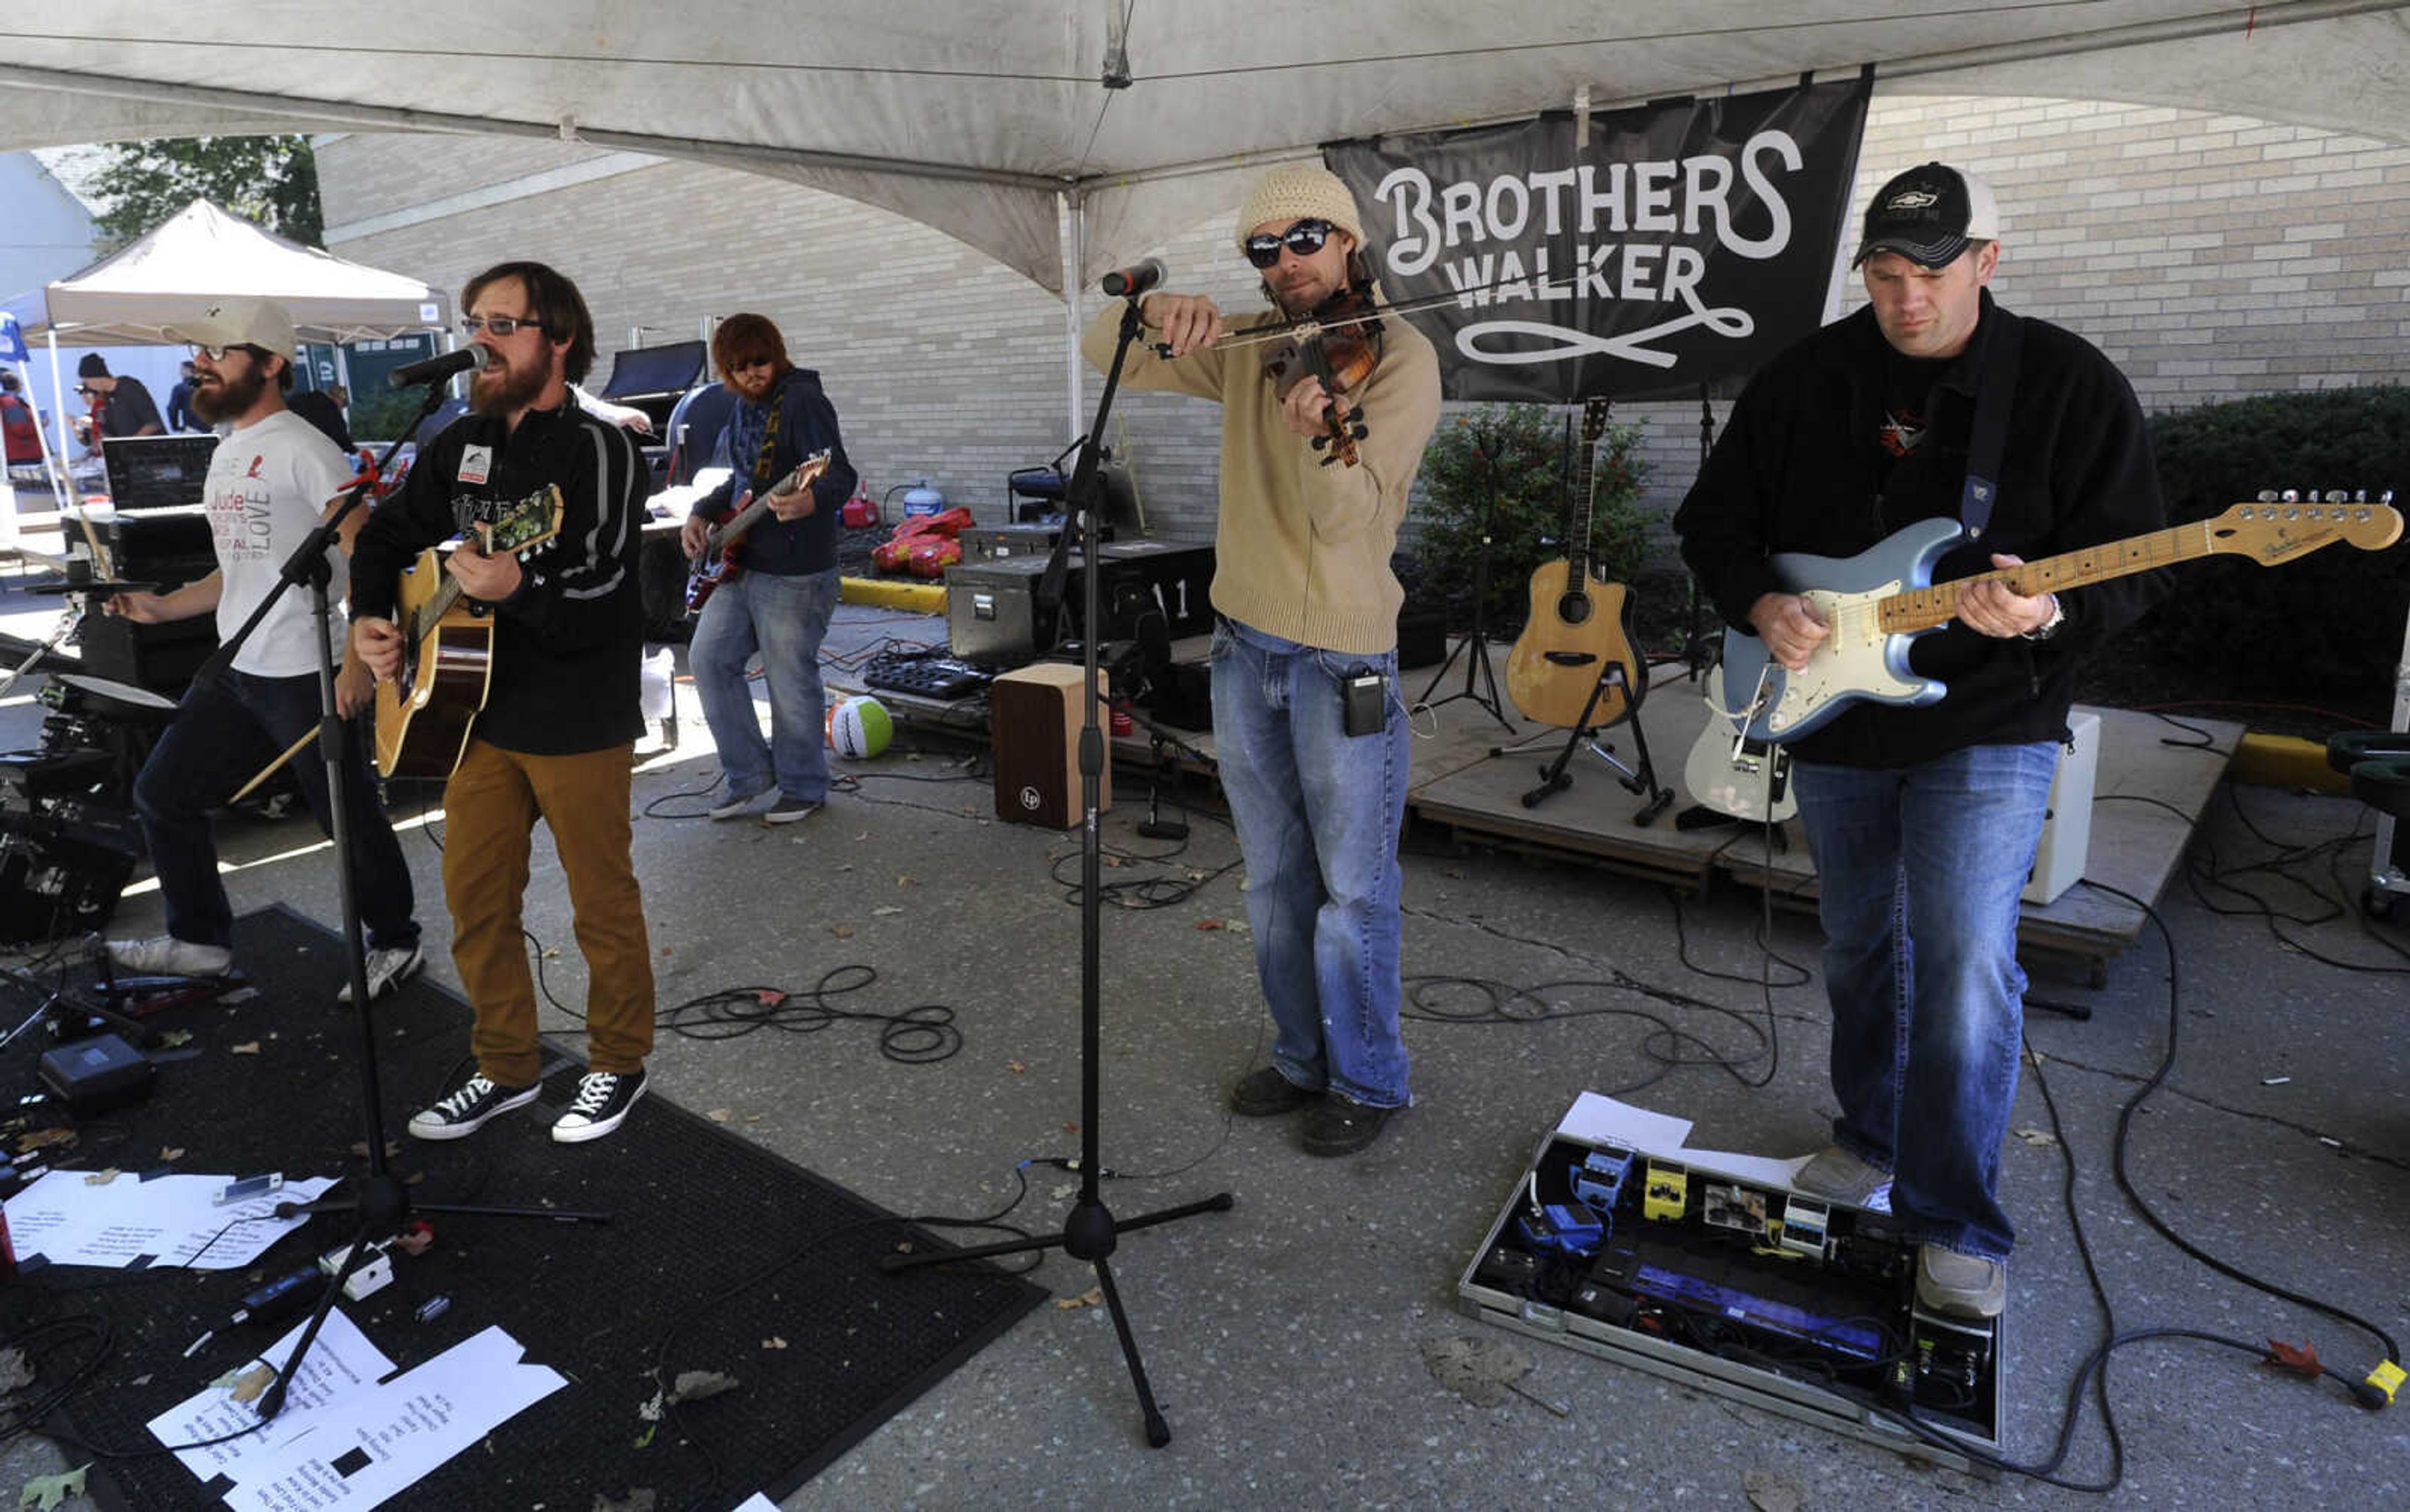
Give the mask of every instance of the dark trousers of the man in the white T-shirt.
<svg viewBox="0 0 2410 1512">
<path fill-rule="evenodd" d="M 166 932 L 207 946 L 234 944 L 234 910 L 217 879 L 217 838 L 210 833 L 210 809 L 227 802 L 277 751 L 301 739 L 318 722 L 318 677 L 253 677 L 227 669 L 210 686 L 193 686 L 176 720 L 152 746 L 142 775 L 135 778 L 135 816 L 159 874 L 159 898 L 166 903 Z M 345 730 L 342 787 L 345 823 L 352 835 L 352 881 L 359 888 L 359 920 L 369 949 L 390 951 L 417 944 L 410 867 L 393 838 L 393 823 L 376 797 L 369 770 L 366 720 Z M 289 763 L 301 780 L 318 833 L 333 838 L 325 761 L 318 746 L 304 746 Z"/>
</svg>

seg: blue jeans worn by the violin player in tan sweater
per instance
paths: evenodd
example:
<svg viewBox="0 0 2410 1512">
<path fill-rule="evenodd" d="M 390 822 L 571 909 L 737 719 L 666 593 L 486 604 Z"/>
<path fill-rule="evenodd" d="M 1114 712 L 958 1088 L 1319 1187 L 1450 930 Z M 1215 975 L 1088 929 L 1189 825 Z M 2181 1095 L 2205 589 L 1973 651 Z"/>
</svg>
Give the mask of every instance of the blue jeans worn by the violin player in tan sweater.
<svg viewBox="0 0 2410 1512">
<path fill-rule="evenodd" d="M 1386 679 L 1379 734 L 1347 734 L 1340 677 Z M 1272 1064 L 1304 1088 L 1403 1108 L 1398 826 L 1407 730 L 1398 657 L 1297 645 L 1219 621 L 1212 732 L 1246 857 L 1246 922 Z"/>
</svg>

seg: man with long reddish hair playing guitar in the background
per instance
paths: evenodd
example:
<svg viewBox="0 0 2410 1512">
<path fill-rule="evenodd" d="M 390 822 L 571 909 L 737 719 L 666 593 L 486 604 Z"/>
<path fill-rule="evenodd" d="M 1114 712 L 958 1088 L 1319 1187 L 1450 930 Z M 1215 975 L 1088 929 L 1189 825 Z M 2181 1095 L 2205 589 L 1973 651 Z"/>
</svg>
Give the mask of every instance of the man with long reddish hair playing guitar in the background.
<svg viewBox="0 0 2410 1512">
<path fill-rule="evenodd" d="M 836 510 L 853 494 L 853 462 L 836 433 L 836 409 L 819 392 L 819 373 L 788 359 L 786 337 L 764 315 L 723 320 L 711 335 L 711 361 L 737 397 L 721 436 L 730 474 L 694 501 L 680 544 L 699 559 L 711 525 L 730 513 L 735 496 L 771 501 L 769 515 L 737 547 L 740 571 L 704 600 L 687 645 L 694 691 L 721 751 L 721 792 L 711 816 L 759 811 L 762 823 L 795 823 L 829 802 L 819 643 L 836 614 Z M 805 457 L 822 450 L 829 465 L 807 489 L 774 494 Z M 766 742 L 745 686 L 745 665 L 754 652 L 769 684 Z"/>
</svg>

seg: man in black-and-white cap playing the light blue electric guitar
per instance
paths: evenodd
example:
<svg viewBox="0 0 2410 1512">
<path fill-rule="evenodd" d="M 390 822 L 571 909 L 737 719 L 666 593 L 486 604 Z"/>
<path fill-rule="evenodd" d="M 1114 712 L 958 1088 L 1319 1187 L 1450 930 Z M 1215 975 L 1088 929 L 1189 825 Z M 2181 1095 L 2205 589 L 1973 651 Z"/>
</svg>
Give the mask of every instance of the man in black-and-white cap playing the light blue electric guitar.
<svg viewBox="0 0 2410 1512">
<path fill-rule="evenodd" d="M 2147 534 L 2164 510 L 2116 366 L 1993 301 L 2000 209 L 1981 178 L 1945 164 L 1899 173 L 1868 202 L 1851 265 L 1868 306 L 1750 380 L 1673 525 L 1726 624 L 1764 645 L 1757 665 L 1805 674 L 1793 691 L 1868 693 L 1786 742 L 1817 869 L 1841 1110 L 1791 1185 L 1851 1204 L 1889 1185 L 1918 1245 L 1916 1300 L 1983 1319 L 2008 1305 L 2015 1247 L 2000 1144 L 2024 1023 L 2017 905 L 2075 669 L 2167 583 L 1962 580 Z M 1832 559 L 1824 575 L 1885 568 L 1861 580 L 1880 583 L 1901 542 L 1950 539 L 1935 520 L 1959 527 L 1930 568 L 1957 583 L 1957 616 L 1904 648 L 1836 636 L 1827 609 L 1846 583 L 1800 580 L 1800 561 Z M 1901 650 L 1945 689 L 1938 701 L 1887 703 L 1868 684 L 1865 660 Z"/>
</svg>

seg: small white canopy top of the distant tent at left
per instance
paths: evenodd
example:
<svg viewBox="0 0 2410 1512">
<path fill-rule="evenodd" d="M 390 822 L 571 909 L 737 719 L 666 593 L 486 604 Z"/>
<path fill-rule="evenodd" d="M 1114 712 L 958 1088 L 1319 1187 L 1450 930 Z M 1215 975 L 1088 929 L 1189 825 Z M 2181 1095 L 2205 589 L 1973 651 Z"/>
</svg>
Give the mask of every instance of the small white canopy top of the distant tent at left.
<svg viewBox="0 0 2410 1512">
<path fill-rule="evenodd" d="M 164 342 L 217 299 L 275 299 L 304 342 L 369 342 L 443 325 L 448 299 L 419 279 L 345 262 L 193 200 L 125 250 L 7 301 L 27 339 Z"/>
</svg>

